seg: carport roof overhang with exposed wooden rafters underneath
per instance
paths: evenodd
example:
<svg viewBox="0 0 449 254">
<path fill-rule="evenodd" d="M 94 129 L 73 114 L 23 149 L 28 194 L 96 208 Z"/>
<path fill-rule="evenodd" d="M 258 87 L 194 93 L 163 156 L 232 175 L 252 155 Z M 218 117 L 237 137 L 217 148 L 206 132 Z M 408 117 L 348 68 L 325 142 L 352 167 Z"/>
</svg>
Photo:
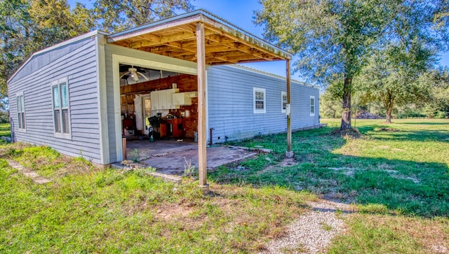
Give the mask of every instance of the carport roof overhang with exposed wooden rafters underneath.
<svg viewBox="0 0 449 254">
<path fill-rule="evenodd" d="M 197 61 L 196 24 L 204 24 L 206 64 L 292 59 L 292 54 L 206 12 L 195 10 L 107 36 L 107 42 L 187 61 Z"/>
</svg>

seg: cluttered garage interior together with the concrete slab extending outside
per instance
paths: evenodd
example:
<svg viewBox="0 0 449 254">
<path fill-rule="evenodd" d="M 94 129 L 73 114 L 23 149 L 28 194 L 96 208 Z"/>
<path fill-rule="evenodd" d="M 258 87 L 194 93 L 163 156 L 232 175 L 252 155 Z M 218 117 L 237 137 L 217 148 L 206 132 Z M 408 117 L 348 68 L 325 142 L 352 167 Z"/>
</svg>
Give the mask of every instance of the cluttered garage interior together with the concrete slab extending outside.
<svg viewBox="0 0 449 254">
<path fill-rule="evenodd" d="M 172 175 L 198 167 L 197 77 L 129 64 L 120 64 L 119 69 L 127 159 Z M 254 155 L 248 150 L 208 147 L 208 169 Z"/>
</svg>

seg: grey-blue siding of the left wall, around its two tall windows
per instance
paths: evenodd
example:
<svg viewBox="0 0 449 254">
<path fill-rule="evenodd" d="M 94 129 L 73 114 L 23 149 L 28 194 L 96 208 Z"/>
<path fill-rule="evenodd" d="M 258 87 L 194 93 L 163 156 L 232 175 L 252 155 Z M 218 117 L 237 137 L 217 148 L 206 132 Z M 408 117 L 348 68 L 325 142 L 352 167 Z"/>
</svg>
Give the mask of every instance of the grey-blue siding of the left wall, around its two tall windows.
<svg viewBox="0 0 449 254">
<path fill-rule="evenodd" d="M 51 146 L 60 153 L 83 155 L 95 163 L 100 161 L 100 129 L 98 118 L 98 84 L 95 38 L 63 45 L 35 55 L 8 83 L 11 116 L 17 122 L 15 94 L 25 97 L 26 132 L 15 138 L 37 145 Z M 51 82 L 67 77 L 69 85 L 72 139 L 55 137 Z"/>
</svg>

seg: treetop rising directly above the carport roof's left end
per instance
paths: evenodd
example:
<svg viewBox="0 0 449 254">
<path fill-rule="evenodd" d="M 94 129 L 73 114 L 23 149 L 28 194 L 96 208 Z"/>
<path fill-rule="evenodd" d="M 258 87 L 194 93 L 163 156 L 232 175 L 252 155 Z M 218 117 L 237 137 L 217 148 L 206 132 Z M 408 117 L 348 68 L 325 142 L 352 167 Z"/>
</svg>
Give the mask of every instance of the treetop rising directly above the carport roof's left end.
<svg viewBox="0 0 449 254">
<path fill-rule="evenodd" d="M 121 31 L 175 15 L 175 10 L 192 10 L 190 0 L 96 0 L 93 3 L 100 28 Z"/>
</svg>

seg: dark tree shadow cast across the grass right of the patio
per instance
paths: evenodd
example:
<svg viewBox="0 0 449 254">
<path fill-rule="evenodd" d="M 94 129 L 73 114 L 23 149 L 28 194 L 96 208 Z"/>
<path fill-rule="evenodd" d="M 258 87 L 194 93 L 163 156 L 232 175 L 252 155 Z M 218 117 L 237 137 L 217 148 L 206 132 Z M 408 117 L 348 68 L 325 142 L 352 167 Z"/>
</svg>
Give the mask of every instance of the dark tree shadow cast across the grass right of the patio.
<svg viewBox="0 0 449 254">
<path fill-rule="evenodd" d="M 446 164 L 332 153 L 347 141 L 341 136 L 328 134 L 330 130 L 293 134 L 295 164 L 283 163 L 283 152 L 277 152 L 259 155 L 238 165 L 220 167 L 210 174 L 210 178 L 217 183 L 247 183 L 255 187 L 281 185 L 344 202 L 382 204 L 407 215 L 449 217 L 449 174 Z M 424 131 L 412 134 L 394 132 L 398 137 L 388 139 L 414 139 L 420 136 L 419 140 L 424 139 L 425 142 L 427 139 L 423 138 L 423 134 Z M 282 149 L 275 145 L 279 139 L 279 135 L 260 137 L 245 141 L 242 145 L 259 143 L 265 148 L 279 151 Z"/>
</svg>

